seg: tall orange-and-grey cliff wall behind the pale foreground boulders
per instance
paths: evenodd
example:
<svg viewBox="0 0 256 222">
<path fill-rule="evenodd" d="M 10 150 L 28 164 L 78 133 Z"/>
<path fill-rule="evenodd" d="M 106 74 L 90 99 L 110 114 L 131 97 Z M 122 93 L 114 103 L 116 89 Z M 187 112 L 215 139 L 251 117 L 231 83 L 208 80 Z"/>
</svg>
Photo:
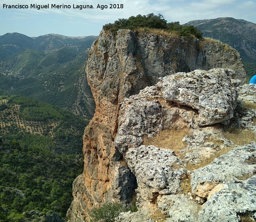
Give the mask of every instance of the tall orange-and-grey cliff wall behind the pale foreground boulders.
<svg viewBox="0 0 256 222">
<path fill-rule="evenodd" d="M 159 77 L 195 69 L 232 68 L 235 78 L 244 81 L 239 54 L 216 44 L 202 42 L 199 47 L 199 40 L 192 37 L 163 37 L 131 30 L 119 30 L 116 35 L 100 33 L 86 67 L 96 109 L 84 132 L 84 172 L 73 184 L 74 201 L 67 213 L 70 222 L 85 221 L 92 207 L 105 202 L 130 203 L 137 188 L 134 174 L 123 161 L 126 148 L 117 149 L 115 145 L 119 122 L 124 122 L 119 115 L 125 98 L 156 84 Z M 161 105 L 150 107 L 146 102 L 144 106 L 145 116 L 147 111 L 154 111 L 156 117 L 144 125 L 154 119 L 159 122 Z M 154 130 L 148 133 L 154 136 L 158 132 Z"/>
</svg>

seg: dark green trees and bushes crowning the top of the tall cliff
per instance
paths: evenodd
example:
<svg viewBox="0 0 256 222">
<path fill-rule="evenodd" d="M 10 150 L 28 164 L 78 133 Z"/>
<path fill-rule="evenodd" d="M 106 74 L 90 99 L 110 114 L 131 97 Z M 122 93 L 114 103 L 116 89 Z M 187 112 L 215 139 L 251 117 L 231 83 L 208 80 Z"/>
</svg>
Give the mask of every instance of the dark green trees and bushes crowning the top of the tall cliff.
<svg viewBox="0 0 256 222">
<path fill-rule="evenodd" d="M 118 19 L 114 23 L 109 23 L 103 26 L 104 30 L 116 32 L 119 29 L 136 29 L 137 27 L 148 27 L 164 29 L 166 31 L 177 32 L 180 36 L 195 35 L 197 38 L 202 38 L 203 33 L 194 26 L 182 26 L 180 22 L 170 22 L 164 19 L 161 14 L 155 15 L 150 13 L 148 15 L 131 16 L 129 19 Z"/>
</svg>

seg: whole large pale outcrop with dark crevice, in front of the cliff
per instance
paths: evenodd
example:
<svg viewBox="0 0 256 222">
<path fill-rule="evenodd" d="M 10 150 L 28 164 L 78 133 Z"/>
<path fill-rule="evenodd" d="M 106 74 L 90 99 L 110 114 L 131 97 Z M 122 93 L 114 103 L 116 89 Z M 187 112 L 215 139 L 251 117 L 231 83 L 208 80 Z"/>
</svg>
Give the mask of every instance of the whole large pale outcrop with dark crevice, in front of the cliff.
<svg viewBox="0 0 256 222">
<path fill-rule="evenodd" d="M 232 72 L 212 69 L 176 73 L 124 99 L 119 112 L 116 148 L 124 153 L 139 147 L 143 136 L 153 138 L 163 129 L 196 128 L 231 119 L 238 97 L 228 76 Z"/>
</svg>

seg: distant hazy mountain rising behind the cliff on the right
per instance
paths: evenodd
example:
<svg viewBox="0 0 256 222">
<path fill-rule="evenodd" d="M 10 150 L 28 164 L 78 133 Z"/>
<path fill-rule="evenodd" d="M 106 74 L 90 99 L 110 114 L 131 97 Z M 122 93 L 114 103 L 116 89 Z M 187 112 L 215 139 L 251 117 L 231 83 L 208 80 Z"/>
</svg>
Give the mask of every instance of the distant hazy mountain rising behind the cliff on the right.
<svg viewBox="0 0 256 222">
<path fill-rule="evenodd" d="M 243 19 L 217 18 L 189 21 L 200 29 L 203 37 L 220 40 L 236 49 L 248 76 L 256 74 L 256 24 Z"/>
</svg>

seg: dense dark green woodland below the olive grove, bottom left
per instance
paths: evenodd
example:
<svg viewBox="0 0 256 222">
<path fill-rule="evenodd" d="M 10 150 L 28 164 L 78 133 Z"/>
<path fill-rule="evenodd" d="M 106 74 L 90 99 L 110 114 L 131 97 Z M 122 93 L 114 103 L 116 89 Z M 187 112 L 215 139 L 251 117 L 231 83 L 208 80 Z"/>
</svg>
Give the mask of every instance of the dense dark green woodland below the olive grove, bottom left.
<svg viewBox="0 0 256 222">
<path fill-rule="evenodd" d="M 0 221 L 26 221 L 29 213 L 22 213 L 32 210 L 65 218 L 71 203 L 82 155 L 54 154 L 39 145 L 45 145 L 44 139 L 37 136 L 38 143 L 29 139 L 26 145 L 28 138 L 23 142 L 0 138 Z"/>
</svg>

